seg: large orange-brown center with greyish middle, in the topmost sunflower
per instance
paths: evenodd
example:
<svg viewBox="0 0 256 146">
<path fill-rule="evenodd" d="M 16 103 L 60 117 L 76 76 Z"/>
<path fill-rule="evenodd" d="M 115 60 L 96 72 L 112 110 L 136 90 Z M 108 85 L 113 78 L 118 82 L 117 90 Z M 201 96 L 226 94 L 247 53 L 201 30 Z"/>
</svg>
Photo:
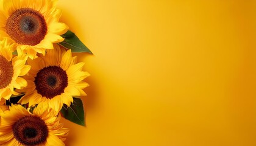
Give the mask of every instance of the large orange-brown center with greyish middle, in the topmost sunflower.
<svg viewBox="0 0 256 146">
<path fill-rule="evenodd" d="M 5 29 L 16 43 L 35 46 L 44 39 L 47 24 L 44 16 L 37 10 L 22 8 L 9 16 Z"/>
</svg>

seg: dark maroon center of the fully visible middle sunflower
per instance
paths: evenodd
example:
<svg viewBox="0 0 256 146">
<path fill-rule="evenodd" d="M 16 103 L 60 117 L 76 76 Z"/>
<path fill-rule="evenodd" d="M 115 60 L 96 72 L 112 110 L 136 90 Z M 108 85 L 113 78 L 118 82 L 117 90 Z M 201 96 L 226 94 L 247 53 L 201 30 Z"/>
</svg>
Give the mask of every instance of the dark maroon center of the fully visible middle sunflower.
<svg viewBox="0 0 256 146">
<path fill-rule="evenodd" d="M 64 92 L 68 86 L 68 75 L 59 66 L 48 66 L 38 71 L 34 82 L 41 96 L 52 99 Z"/>
</svg>

